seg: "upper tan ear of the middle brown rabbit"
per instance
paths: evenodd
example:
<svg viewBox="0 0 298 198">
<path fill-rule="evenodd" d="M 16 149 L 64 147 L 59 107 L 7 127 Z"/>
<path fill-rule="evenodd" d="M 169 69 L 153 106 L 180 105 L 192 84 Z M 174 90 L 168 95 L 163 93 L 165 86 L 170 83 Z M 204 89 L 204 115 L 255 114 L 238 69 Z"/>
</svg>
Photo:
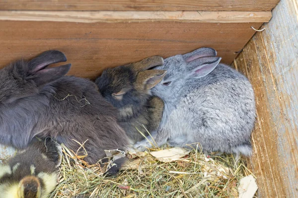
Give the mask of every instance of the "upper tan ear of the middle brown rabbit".
<svg viewBox="0 0 298 198">
<path fill-rule="evenodd" d="M 139 72 L 162 64 L 163 58 L 161 56 L 150 56 L 148 58 L 144 58 L 139 62 L 132 63 L 132 66 L 135 71 Z"/>
</svg>

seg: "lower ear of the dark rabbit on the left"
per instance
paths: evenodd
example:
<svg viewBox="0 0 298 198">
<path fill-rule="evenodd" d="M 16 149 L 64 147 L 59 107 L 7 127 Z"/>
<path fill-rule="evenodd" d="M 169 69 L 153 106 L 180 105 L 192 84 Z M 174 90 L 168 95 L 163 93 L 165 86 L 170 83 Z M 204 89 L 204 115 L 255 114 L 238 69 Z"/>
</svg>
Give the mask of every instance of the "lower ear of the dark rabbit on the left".
<svg viewBox="0 0 298 198">
<path fill-rule="evenodd" d="M 72 64 L 67 64 L 59 67 L 39 70 L 33 75 L 32 80 L 37 86 L 45 85 L 66 75 L 71 66 Z"/>
</svg>

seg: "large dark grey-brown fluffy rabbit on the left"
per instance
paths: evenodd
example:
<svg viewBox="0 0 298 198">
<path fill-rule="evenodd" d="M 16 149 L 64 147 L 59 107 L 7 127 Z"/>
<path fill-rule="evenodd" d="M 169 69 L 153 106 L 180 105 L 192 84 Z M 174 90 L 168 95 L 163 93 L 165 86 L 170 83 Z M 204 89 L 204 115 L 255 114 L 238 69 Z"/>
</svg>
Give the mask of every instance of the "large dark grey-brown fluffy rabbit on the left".
<svg viewBox="0 0 298 198">
<path fill-rule="evenodd" d="M 61 51 L 49 50 L 0 70 L 0 144 L 25 148 L 34 136 L 50 136 L 76 151 L 80 146 L 74 140 L 87 140 L 89 163 L 105 157 L 104 149 L 126 149 L 117 110 L 90 80 L 64 76 L 71 64 L 47 67 L 61 61 L 66 61 Z"/>
</svg>

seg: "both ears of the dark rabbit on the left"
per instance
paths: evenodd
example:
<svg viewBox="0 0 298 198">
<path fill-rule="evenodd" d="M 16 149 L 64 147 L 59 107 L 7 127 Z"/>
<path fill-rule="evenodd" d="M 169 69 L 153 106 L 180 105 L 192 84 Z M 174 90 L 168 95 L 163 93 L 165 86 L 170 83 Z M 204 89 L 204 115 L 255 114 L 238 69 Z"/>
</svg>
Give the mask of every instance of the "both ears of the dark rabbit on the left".
<svg viewBox="0 0 298 198">
<path fill-rule="evenodd" d="M 55 81 L 66 75 L 71 64 L 47 68 L 50 64 L 67 61 L 64 53 L 58 50 L 48 50 L 29 61 L 29 75 L 37 86 Z"/>
</svg>

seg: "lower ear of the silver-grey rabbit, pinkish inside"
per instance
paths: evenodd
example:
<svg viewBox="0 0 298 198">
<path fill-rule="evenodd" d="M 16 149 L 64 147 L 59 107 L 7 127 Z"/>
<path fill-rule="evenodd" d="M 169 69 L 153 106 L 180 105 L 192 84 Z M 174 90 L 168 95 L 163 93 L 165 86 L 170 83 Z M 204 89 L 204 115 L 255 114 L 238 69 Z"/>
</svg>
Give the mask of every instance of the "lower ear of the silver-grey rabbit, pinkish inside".
<svg viewBox="0 0 298 198">
<path fill-rule="evenodd" d="M 212 72 L 220 63 L 221 57 L 204 57 L 187 63 L 188 78 L 202 78 Z"/>
</svg>

